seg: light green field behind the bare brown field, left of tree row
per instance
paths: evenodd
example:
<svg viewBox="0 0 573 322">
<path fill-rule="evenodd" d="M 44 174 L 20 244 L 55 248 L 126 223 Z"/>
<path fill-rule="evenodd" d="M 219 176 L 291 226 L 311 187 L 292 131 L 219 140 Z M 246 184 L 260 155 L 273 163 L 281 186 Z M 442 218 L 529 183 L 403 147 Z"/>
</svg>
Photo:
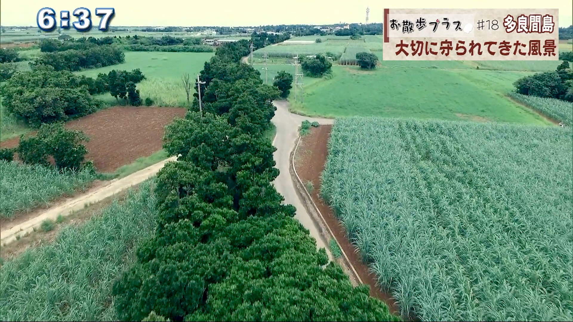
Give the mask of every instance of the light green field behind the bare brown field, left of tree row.
<svg viewBox="0 0 573 322">
<path fill-rule="evenodd" d="M 199 70 L 213 56 L 213 53 L 167 53 L 167 52 L 126 52 L 124 64 L 103 68 L 87 69 L 78 74 L 96 77 L 98 73 L 107 73 L 112 69 L 132 70 L 139 68 L 146 80 L 137 84 L 142 100 L 150 97 L 155 105 L 185 107 L 187 98 L 181 83 L 181 76 L 189 73 L 197 77 Z M 109 104 L 115 104 L 115 98 L 109 93 L 96 96 Z"/>
</svg>

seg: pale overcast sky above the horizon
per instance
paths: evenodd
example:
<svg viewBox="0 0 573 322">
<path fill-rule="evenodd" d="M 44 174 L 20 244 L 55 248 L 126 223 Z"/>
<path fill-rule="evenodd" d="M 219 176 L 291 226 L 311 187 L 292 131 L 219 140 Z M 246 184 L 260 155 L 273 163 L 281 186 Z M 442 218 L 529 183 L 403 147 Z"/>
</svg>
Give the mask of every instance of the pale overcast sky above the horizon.
<svg viewBox="0 0 573 322">
<path fill-rule="evenodd" d="M 2 0 L 0 23 L 3 26 L 36 26 L 36 14 L 51 7 L 58 14 L 70 13 L 79 6 L 115 8 L 111 26 L 259 26 L 295 23 L 321 25 L 338 22 L 364 22 L 366 6 L 370 22 L 382 22 L 384 8 L 520 8 L 559 9 L 559 26 L 573 22 L 571 0 Z M 525 5 L 528 3 L 529 5 Z M 99 17 L 97 18 L 99 21 Z M 57 17 L 59 21 L 59 15 Z"/>
</svg>

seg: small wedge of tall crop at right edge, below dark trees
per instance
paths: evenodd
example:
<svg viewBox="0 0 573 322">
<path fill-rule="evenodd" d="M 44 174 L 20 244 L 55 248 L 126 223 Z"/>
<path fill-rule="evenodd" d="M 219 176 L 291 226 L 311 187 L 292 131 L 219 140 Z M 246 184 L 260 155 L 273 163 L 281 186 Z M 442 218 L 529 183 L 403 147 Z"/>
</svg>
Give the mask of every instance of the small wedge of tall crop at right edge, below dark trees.
<svg viewBox="0 0 573 322">
<path fill-rule="evenodd" d="M 521 95 L 518 93 L 510 93 L 509 95 L 513 99 L 528 105 L 553 120 L 563 122 L 567 126 L 573 125 L 573 103 L 571 102 Z"/>
</svg>

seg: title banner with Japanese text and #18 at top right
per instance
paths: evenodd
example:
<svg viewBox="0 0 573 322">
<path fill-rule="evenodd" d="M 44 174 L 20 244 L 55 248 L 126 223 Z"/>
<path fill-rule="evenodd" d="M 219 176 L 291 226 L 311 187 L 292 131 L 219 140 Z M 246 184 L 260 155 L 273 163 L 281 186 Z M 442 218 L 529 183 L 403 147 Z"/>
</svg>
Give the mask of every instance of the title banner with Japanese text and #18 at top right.
<svg viewBox="0 0 573 322">
<path fill-rule="evenodd" d="M 384 9 L 383 60 L 559 60 L 558 9 Z"/>
</svg>

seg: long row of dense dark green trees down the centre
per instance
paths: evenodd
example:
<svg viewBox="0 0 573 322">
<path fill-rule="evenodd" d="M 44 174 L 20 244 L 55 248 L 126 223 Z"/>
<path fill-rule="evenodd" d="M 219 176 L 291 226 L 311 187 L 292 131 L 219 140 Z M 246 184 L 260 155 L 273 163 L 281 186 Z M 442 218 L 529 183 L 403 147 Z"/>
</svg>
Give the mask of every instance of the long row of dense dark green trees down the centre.
<svg viewBox="0 0 573 322">
<path fill-rule="evenodd" d="M 270 126 L 278 90 L 240 62 L 249 43 L 224 45 L 200 73 L 185 119 L 167 127 L 180 155 L 156 178 L 158 226 L 113 285 L 122 320 L 397 320 L 353 287 L 282 205 L 272 181 Z"/>
</svg>

